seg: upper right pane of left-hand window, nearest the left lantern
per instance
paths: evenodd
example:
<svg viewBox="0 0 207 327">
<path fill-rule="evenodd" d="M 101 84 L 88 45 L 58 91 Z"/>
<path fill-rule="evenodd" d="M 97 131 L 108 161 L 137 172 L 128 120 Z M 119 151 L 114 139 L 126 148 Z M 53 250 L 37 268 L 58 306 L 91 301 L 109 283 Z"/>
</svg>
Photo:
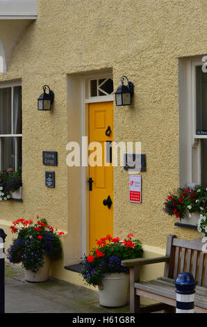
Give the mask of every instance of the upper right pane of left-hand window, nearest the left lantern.
<svg viewBox="0 0 207 327">
<path fill-rule="evenodd" d="M 13 106 L 13 131 L 14 134 L 22 134 L 22 86 L 15 86 L 14 88 Z"/>
</svg>

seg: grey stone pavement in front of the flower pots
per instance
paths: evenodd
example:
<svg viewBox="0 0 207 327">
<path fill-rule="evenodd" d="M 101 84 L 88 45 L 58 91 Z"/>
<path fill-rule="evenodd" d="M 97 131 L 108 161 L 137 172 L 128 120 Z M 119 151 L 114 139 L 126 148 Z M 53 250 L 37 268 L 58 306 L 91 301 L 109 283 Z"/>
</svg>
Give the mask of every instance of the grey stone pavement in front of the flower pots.
<svg viewBox="0 0 207 327">
<path fill-rule="evenodd" d="M 129 304 L 106 308 L 96 291 L 50 278 L 47 282 L 26 282 L 19 266 L 6 263 L 6 313 L 128 313 Z"/>
</svg>

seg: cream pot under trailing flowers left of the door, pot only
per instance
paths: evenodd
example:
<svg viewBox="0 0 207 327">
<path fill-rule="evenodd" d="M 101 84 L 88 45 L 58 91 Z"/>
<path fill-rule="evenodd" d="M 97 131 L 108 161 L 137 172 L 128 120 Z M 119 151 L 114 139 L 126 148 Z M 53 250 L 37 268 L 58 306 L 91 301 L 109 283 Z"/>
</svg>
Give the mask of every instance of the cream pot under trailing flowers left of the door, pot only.
<svg viewBox="0 0 207 327">
<path fill-rule="evenodd" d="M 49 280 L 49 264 L 48 257 L 44 257 L 44 266 L 41 267 L 37 273 L 33 273 L 31 270 L 24 269 L 24 277 L 27 282 L 46 282 Z"/>
</svg>

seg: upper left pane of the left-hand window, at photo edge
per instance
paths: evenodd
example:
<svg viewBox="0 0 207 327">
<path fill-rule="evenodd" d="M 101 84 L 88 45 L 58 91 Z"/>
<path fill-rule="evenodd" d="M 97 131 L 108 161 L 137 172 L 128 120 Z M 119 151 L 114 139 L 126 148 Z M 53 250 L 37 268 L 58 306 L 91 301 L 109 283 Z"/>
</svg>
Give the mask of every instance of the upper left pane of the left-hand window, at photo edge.
<svg viewBox="0 0 207 327">
<path fill-rule="evenodd" d="M 0 134 L 11 132 L 11 88 L 0 88 Z"/>
</svg>

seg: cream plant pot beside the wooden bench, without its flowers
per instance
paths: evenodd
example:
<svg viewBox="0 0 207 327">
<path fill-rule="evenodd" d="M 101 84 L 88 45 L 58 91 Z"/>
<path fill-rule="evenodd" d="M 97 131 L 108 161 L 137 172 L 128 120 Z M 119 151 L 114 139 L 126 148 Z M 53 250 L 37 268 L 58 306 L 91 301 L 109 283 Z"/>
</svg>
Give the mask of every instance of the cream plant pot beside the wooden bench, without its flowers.
<svg viewBox="0 0 207 327">
<path fill-rule="evenodd" d="M 121 307 L 128 301 L 129 274 L 110 273 L 99 286 L 99 301 L 105 307 Z"/>
</svg>

